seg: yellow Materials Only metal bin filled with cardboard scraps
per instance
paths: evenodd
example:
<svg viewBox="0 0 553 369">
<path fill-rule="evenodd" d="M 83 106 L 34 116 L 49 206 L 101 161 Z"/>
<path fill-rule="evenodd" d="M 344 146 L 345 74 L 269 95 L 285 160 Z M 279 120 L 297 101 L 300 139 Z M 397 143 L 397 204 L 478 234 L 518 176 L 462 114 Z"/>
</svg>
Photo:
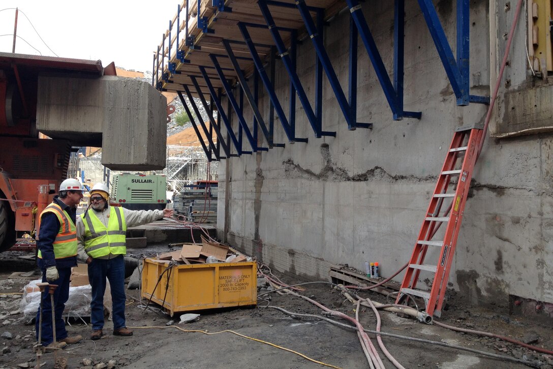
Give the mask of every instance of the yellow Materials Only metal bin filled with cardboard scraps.
<svg viewBox="0 0 553 369">
<path fill-rule="evenodd" d="M 163 275 L 162 275 L 163 274 Z M 161 276 L 161 279 L 158 279 Z M 169 279 L 169 287 L 168 281 Z M 173 316 L 182 311 L 257 303 L 257 263 L 176 264 L 144 259 L 142 297 Z"/>
</svg>

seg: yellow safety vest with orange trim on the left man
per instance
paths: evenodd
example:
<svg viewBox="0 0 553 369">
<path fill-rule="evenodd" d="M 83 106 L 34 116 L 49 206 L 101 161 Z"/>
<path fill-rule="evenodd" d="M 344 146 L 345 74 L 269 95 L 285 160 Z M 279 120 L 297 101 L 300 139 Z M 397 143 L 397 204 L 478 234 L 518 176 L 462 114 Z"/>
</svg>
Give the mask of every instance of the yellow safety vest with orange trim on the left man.
<svg viewBox="0 0 553 369">
<path fill-rule="evenodd" d="M 63 259 L 77 254 L 77 228 L 73 223 L 73 220 L 67 214 L 65 210 L 61 209 L 61 206 L 52 202 L 46 206 L 40 213 L 40 218 L 47 212 L 53 212 L 60 222 L 60 230 L 56 235 L 55 241 L 52 243 L 54 246 L 54 257 L 56 259 Z M 39 235 L 40 238 L 40 235 Z M 38 257 L 42 258 L 42 253 L 38 251 Z"/>
</svg>

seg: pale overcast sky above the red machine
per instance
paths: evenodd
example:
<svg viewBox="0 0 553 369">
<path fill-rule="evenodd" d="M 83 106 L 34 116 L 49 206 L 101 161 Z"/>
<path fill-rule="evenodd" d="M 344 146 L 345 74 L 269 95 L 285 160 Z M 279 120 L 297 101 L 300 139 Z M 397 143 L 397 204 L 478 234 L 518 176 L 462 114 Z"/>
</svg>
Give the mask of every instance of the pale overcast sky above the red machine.
<svg viewBox="0 0 553 369">
<path fill-rule="evenodd" d="M 154 51 L 181 2 L 0 0 L 0 51 L 12 52 L 15 9 L 10 8 L 17 7 L 15 53 L 99 59 L 103 66 L 114 61 L 127 70 L 151 72 Z"/>
</svg>

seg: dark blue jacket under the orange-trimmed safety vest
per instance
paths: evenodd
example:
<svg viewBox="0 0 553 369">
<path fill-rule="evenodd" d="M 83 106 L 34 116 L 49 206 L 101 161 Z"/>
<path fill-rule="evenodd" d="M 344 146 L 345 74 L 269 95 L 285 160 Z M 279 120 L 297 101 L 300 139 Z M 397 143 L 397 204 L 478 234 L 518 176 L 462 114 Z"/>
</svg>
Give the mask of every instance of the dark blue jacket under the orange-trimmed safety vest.
<svg viewBox="0 0 553 369">
<path fill-rule="evenodd" d="M 69 214 L 70 219 L 75 224 L 77 220 L 77 209 L 71 208 L 58 198 L 58 195 L 54 196 L 54 204 L 61 206 L 62 210 L 65 210 Z M 71 268 L 77 265 L 77 257 L 70 256 L 62 259 L 56 259 L 54 257 L 53 243 L 56 240 L 56 235 L 60 231 L 60 221 L 53 212 L 45 213 L 40 220 L 39 240 L 36 241 L 36 247 L 40 250 L 42 258 L 36 258 L 36 263 L 40 269 L 46 269 L 48 267 L 58 268 Z"/>
</svg>

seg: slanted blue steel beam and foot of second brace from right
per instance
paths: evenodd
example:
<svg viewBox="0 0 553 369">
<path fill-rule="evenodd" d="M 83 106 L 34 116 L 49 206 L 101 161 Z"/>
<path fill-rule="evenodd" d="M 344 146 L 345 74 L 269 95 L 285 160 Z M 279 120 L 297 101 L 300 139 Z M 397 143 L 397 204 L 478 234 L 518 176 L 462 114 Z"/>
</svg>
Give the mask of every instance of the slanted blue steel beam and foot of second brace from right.
<svg viewBox="0 0 553 369">
<path fill-rule="evenodd" d="M 355 25 L 357 26 L 359 36 L 361 36 L 361 40 L 363 40 L 363 44 L 365 46 L 365 49 L 367 50 L 369 59 L 371 59 L 371 63 L 378 77 L 378 81 L 380 82 L 380 86 L 382 87 L 382 91 L 384 91 L 384 96 L 386 97 L 386 100 L 388 101 L 388 105 L 390 106 L 390 109 L 394 114 L 394 119 L 399 120 L 403 117 L 420 119 L 421 117 L 420 112 L 403 111 L 403 109 L 400 108 L 400 106 L 403 105 L 403 103 L 400 104 L 399 100 L 403 102 L 403 94 L 398 95 L 398 93 L 394 89 L 394 86 L 392 85 L 392 81 L 390 80 L 388 71 L 384 66 L 382 57 L 380 56 L 377 45 L 374 42 L 374 38 L 373 38 L 373 35 L 371 34 L 371 30 L 369 30 L 367 20 L 365 19 L 363 15 L 363 11 L 361 10 L 361 5 L 359 5 L 359 2 L 357 0 L 346 0 L 346 2 L 349 7 L 349 13 L 353 18 Z M 394 44 L 394 55 L 400 54 L 403 52 L 404 52 L 403 48 L 400 49 L 398 48 L 398 45 Z M 395 61 L 397 60 L 394 60 L 394 62 Z M 403 74 L 403 68 L 401 68 L 400 72 L 401 74 Z"/>
</svg>

